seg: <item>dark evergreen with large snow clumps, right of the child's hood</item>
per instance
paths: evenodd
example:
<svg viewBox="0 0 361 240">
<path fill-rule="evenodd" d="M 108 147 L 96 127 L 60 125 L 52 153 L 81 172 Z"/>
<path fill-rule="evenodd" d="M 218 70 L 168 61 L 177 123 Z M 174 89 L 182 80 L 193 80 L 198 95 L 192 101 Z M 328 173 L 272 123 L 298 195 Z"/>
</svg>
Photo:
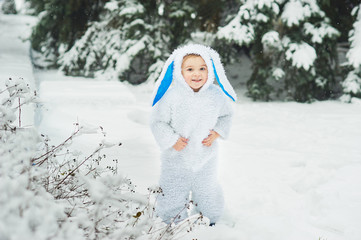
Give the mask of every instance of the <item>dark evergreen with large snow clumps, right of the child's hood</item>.
<svg viewBox="0 0 361 240">
<path fill-rule="evenodd" d="M 248 93 L 300 102 L 332 97 L 338 31 L 316 0 L 245 0 L 218 38 L 250 46 Z"/>
</svg>

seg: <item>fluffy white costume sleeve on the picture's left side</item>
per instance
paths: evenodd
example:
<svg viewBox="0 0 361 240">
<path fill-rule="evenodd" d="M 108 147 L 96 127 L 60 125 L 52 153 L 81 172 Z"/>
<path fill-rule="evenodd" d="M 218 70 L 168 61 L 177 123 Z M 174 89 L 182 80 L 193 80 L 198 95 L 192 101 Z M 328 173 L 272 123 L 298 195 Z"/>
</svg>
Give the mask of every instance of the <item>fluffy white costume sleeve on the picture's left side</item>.
<svg viewBox="0 0 361 240">
<path fill-rule="evenodd" d="M 171 148 L 178 140 L 177 134 L 172 128 L 171 122 L 171 107 L 164 103 L 158 102 L 151 114 L 150 128 L 162 151 Z"/>
</svg>

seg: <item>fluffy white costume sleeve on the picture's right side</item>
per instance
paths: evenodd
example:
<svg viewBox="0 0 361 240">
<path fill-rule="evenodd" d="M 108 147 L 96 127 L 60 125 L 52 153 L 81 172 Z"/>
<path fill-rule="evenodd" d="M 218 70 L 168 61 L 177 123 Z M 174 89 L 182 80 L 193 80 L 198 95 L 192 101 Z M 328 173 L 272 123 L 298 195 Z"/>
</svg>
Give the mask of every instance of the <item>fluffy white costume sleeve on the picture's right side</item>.
<svg viewBox="0 0 361 240">
<path fill-rule="evenodd" d="M 214 131 L 216 131 L 223 139 L 228 138 L 229 131 L 231 128 L 233 116 L 233 109 L 231 103 L 229 101 L 225 101 L 224 105 L 220 110 L 220 114 L 214 127 Z"/>
</svg>

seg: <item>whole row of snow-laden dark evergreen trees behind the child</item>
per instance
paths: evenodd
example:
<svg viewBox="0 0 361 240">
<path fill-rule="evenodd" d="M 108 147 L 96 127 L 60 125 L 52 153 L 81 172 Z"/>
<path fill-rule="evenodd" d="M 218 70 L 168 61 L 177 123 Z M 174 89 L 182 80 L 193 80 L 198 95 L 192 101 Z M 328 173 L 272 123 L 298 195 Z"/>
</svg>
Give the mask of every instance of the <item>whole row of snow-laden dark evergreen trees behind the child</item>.
<svg viewBox="0 0 361 240">
<path fill-rule="evenodd" d="M 67 75 L 154 81 L 176 47 L 199 42 L 226 65 L 251 60 L 246 85 L 254 100 L 360 97 L 357 0 L 26 3 L 39 16 L 31 35 L 36 64 Z"/>
</svg>

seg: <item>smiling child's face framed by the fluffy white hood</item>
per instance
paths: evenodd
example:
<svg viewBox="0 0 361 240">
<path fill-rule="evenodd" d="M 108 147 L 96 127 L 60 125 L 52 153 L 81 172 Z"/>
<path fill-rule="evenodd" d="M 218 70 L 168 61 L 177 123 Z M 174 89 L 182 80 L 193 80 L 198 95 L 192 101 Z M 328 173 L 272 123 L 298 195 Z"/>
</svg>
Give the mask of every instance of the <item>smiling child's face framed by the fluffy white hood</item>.
<svg viewBox="0 0 361 240">
<path fill-rule="evenodd" d="M 208 79 L 208 69 L 203 58 L 194 55 L 185 56 L 182 63 L 182 75 L 193 91 L 198 92 Z"/>
</svg>

